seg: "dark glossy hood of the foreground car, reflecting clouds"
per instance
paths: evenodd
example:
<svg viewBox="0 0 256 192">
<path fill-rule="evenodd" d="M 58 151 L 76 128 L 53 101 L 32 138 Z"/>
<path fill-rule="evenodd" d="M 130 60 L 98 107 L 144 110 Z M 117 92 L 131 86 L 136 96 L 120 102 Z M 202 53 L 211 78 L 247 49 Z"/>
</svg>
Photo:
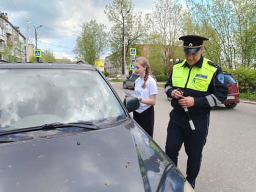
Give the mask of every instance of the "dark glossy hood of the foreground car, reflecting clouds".
<svg viewBox="0 0 256 192">
<path fill-rule="evenodd" d="M 132 122 L 0 144 L 0 191 L 155 191 L 169 162 L 154 148 Z"/>
</svg>

